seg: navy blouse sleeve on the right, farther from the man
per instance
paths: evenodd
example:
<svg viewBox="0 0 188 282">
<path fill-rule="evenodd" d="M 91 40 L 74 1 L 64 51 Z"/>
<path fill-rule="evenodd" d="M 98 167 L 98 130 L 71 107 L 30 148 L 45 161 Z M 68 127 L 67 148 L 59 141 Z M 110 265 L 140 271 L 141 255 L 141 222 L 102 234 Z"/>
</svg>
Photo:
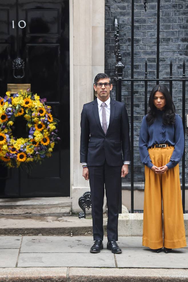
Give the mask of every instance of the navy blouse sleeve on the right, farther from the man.
<svg viewBox="0 0 188 282">
<path fill-rule="evenodd" d="M 171 155 L 169 163 L 167 163 L 167 167 L 169 169 L 175 167 L 180 162 L 184 151 L 185 142 L 184 142 L 183 123 L 179 115 L 176 115 L 176 120 L 174 124 L 174 138 L 175 138 L 174 151 Z"/>
</svg>

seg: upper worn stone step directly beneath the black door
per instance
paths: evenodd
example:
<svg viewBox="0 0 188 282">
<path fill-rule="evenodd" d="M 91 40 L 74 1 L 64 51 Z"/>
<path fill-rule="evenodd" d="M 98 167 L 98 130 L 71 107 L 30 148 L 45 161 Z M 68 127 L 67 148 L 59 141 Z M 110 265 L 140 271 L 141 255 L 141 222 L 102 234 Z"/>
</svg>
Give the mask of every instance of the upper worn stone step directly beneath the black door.
<svg viewBox="0 0 188 282">
<path fill-rule="evenodd" d="M 0 199 L 0 215 L 70 214 L 70 197 Z"/>
</svg>

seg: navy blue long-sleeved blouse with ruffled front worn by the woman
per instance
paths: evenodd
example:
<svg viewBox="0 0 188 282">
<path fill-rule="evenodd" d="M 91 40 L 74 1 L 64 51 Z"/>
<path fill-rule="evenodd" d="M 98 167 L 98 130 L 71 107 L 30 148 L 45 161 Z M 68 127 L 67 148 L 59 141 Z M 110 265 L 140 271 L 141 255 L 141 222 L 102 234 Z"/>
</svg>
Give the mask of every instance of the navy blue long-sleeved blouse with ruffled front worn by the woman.
<svg viewBox="0 0 188 282">
<path fill-rule="evenodd" d="M 170 144 L 174 146 L 174 151 L 166 165 L 169 169 L 175 167 L 181 160 L 184 151 L 184 131 L 181 117 L 175 114 L 174 125 L 163 125 L 163 111 L 160 110 L 157 110 L 157 118 L 152 125 L 147 124 L 146 117 L 147 115 L 143 117 L 139 135 L 139 151 L 142 163 L 149 168 L 153 166 L 148 147 L 155 144 Z"/>
</svg>

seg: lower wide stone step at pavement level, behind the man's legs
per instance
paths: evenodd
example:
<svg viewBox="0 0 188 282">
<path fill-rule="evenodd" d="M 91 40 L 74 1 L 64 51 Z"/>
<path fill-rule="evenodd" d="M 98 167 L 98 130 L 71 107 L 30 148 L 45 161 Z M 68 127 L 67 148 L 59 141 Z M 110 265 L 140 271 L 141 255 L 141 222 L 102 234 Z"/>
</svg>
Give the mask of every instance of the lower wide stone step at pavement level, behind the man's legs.
<svg viewBox="0 0 188 282">
<path fill-rule="evenodd" d="M 92 218 L 78 215 L 1 215 L 0 235 L 92 235 Z M 104 215 L 106 234 L 107 218 Z"/>
</svg>

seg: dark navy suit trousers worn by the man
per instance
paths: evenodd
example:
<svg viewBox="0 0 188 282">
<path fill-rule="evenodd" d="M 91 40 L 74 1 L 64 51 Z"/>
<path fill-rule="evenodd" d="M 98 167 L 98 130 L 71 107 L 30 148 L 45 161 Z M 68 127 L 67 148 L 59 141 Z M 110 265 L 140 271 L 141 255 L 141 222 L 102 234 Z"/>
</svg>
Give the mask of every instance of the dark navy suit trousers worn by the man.
<svg viewBox="0 0 188 282">
<path fill-rule="evenodd" d="M 91 189 L 93 239 L 103 240 L 104 186 L 107 199 L 107 238 L 118 240 L 119 192 L 121 189 L 121 167 L 104 165 L 88 166 Z"/>
</svg>

